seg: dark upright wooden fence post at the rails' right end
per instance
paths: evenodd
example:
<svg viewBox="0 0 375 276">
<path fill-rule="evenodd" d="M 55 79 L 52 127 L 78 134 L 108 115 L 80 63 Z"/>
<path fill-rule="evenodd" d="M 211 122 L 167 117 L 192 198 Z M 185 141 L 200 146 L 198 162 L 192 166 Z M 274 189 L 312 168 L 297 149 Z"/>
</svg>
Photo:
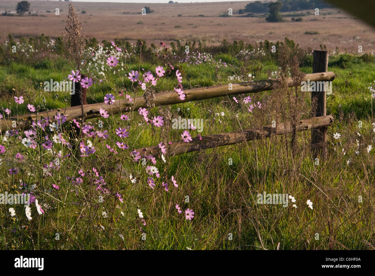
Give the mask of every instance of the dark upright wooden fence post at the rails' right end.
<svg viewBox="0 0 375 276">
<path fill-rule="evenodd" d="M 312 72 L 322 73 L 328 71 L 328 51 L 313 52 Z M 315 83 L 317 84 L 317 83 Z M 319 91 L 319 86 L 315 85 L 315 91 L 311 92 L 311 102 L 316 101 L 316 110 L 312 110 L 312 117 L 326 116 L 326 86 L 323 86 L 323 91 Z M 315 159 L 317 156 L 326 160 L 327 158 L 327 126 L 322 126 L 319 129 L 313 129 L 311 132 L 311 151 Z"/>
</svg>

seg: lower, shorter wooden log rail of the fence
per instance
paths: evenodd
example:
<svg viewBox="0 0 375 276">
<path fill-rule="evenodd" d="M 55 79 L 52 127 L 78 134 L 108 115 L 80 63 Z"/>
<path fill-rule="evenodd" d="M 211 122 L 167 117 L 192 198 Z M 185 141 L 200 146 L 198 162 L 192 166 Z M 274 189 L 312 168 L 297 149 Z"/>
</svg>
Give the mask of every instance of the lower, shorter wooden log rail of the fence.
<svg viewBox="0 0 375 276">
<path fill-rule="evenodd" d="M 299 121 L 297 131 L 308 129 L 319 129 L 320 127 L 327 127 L 333 124 L 332 115 L 312 117 Z M 214 135 L 202 136 L 202 140 L 198 137 L 192 138 L 190 142 L 174 141 L 170 145 L 166 156 L 174 156 L 192 151 L 205 150 L 207 148 L 221 147 L 223 145 L 233 145 L 240 142 L 252 141 L 256 139 L 270 137 L 272 135 L 283 135 L 292 132 L 290 122 L 278 124 L 276 127 L 264 126 L 261 129 L 244 129 L 236 132 L 228 132 Z M 153 154 L 159 156 L 158 146 L 147 148 L 138 148 L 136 151 L 143 155 Z"/>
</svg>

